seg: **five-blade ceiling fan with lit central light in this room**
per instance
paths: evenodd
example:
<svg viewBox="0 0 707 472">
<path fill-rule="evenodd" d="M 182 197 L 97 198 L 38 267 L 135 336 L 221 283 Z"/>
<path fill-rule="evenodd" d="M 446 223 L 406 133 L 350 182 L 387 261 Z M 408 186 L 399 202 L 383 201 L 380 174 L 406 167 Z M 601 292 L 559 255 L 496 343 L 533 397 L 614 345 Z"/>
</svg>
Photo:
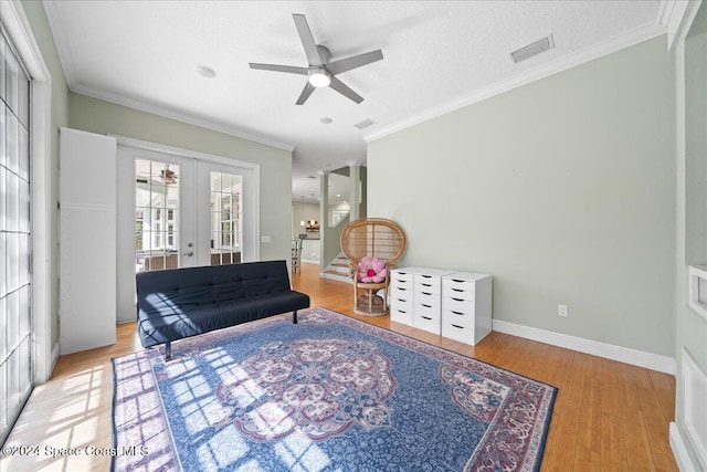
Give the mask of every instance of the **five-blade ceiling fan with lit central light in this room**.
<svg viewBox="0 0 707 472">
<path fill-rule="evenodd" d="M 351 57 L 341 59 L 338 61 L 329 62 L 331 53 L 328 49 L 317 44 L 312 35 L 312 30 L 307 24 L 307 19 L 304 14 L 293 13 L 292 18 L 295 20 L 295 27 L 299 34 L 299 40 L 305 49 L 308 67 L 296 67 L 292 65 L 276 65 L 276 64 L 257 64 L 251 62 L 251 69 L 261 69 L 263 71 L 286 72 L 289 74 L 307 75 L 308 80 L 305 84 L 305 88 L 302 91 L 299 98 L 297 98 L 297 105 L 304 104 L 315 88 L 329 86 L 352 99 L 356 103 L 363 102 L 363 97 L 349 88 L 344 82 L 339 81 L 336 75 L 350 71 L 352 69 L 360 67 L 371 62 L 380 61 L 383 59 L 383 52 L 376 50 L 363 54 L 354 55 Z"/>
</svg>

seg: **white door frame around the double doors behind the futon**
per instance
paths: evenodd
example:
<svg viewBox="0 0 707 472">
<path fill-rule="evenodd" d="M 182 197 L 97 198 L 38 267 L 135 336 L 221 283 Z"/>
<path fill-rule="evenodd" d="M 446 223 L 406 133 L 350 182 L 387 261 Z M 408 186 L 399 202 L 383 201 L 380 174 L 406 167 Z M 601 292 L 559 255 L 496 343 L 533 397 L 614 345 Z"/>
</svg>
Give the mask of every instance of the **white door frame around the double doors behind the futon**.
<svg viewBox="0 0 707 472">
<path fill-rule="evenodd" d="M 143 139 L 129 138 L 118 135 L 109 135 L 118 143 L 117 185 L 118 185 L 118 261 L 117 261 L 117 297 L 118 323 L 135 321 L 135 248 L 133 239 L 123 231 L 133 231 L 135 220 L 135 160 L 126 159 L 120 149 L 123 147 L 136 148 L 145 151 L 155 151 L 162 155 L 171 155 L 177 158 L 189 158 L 194 161 L 204 161 L 230 169 L 234 174 L 243 176 L 243 249 L 242 262 L 258 261 L 260 248 L 260 165 L 244 160 L 215 156 L 191 149 L 150 143 Z M 194 166 L 197 167 L 197 166 Z M 126 189 L 130 188 L 128 195 Z M 122 193 L 124 193 L 122 196 Z M 130 199 L 131 204 L 127 200 Z M 129 211 L 125 210 L 129 208 Z M 124 209 L 125 211 L 122 211 Z M 127 254 L 130 254 L 129 259 Z M 127 301 L 131 301 L 129 305 Z"/>
</svg>

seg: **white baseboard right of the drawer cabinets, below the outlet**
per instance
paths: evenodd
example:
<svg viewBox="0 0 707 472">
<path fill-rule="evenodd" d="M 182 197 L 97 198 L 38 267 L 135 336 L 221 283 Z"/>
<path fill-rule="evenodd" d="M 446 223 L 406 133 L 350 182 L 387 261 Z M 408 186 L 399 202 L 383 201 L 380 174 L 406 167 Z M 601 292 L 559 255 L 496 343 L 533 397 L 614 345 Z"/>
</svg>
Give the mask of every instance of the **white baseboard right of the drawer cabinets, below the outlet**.
<svg viewBox="0 0 707 472">
<path fill-rule="evenodd" d="M 592 356 L 618 360 L 620 363 L 631 364 L 633 366 L 644 367 L 646 369 L 657 370 L 664 374 L 675 375 L 676 373 L 676 364 L 673 357 L 584 339 L 561 333 L 553 333 L 530 326 L 523 326 L 515 323 L 504 322 L 502 319 L 494 319 L 493 324 L 494 331 L 499 333 L 537 340 L 539 343 L 577 350 L 579 353 L 591 354 Z"/>
</svg>

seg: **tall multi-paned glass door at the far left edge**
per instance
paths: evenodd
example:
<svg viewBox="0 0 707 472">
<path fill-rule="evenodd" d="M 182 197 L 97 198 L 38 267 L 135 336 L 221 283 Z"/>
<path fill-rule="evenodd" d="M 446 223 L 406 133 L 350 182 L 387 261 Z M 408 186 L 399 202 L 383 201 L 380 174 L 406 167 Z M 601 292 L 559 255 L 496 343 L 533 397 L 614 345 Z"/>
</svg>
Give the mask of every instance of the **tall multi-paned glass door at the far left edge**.
<svg viewBox="0 0 707 472">
<path fill-rule="evenodd" d="M 32 391 L 30 78 L 0 28 L 0 444 Z"/>
</svg>

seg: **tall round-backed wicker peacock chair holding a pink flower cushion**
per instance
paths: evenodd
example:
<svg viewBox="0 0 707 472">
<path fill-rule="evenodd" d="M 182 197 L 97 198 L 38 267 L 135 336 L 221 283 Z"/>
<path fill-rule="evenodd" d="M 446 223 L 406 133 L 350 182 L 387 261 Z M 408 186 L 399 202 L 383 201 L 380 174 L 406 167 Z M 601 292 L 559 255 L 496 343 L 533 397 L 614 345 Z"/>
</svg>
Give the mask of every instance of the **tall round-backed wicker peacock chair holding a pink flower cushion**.
<svg viewBox="0 0 707 472">
<path fill-rule="evenodd" d="M 341 232 L 341 250 L 349 260 L 354 281 L 354 311 L 361 315 L 388 313 L 388 285 L 390 271 L 402 258 L 408 247 L 405 233 L 391 220 L 362 218 L 348 223 Z M 363 283 L 357 277 L 358 263 L 365 256 L 376 256 L 386 264 L 386 280 L 380 283 Z M 384 292 L 383 297 L 377 295 Z M 359 291 L 363 291 L 360 295 Z"/>
</svg>

